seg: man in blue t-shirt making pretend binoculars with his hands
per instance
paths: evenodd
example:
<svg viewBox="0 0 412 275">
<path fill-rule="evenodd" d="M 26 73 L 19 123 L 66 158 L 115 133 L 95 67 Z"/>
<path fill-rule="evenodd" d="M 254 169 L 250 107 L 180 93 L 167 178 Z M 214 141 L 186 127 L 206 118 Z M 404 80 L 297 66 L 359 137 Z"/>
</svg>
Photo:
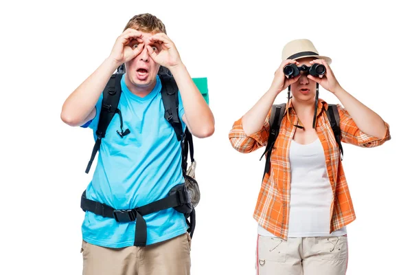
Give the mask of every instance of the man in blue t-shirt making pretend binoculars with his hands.
<svg viewBox="0 0 412 275">
<path fill-rule="evenodd" d="M 87 199 L 116 210 L 133 209 L 168 196 L 183 184 L 181 144 L 165 120 L 159 67 L 170 70 L 179 87 L 179 118 L 196 137 L 214 133 L 214 116 L 165 25 L 152 14 L 127 23 L 111 54 L 67 98 L 61 118 L 70 126 L 98 126 L 102 91 L 115 69 L 124 64 L 120 110 L 102 138 Z M 130 132 L 130 133 L 129 133 Z M 96 135 L 95 135 L 96 138 Z M 190 274 L 190 236 L 183 213 L 168 208 L 147 214 L 146 245 L 136 221 L 118 222 L 86 211 L 82 224 L 83 274 Z"/>
</svg>

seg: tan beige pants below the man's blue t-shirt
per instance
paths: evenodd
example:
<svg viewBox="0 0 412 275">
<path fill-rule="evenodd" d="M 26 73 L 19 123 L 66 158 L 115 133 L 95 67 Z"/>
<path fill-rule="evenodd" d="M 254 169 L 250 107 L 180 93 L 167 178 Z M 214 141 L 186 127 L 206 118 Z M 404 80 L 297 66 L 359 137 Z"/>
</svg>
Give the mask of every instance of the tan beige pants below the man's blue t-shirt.
<svg viewBox="0 0 412 275">
<path fill-rule="evenodd" d="M 190 275 L 188 233 L 144 248 L 104 248 L 82 241 L 83 275 Z"/>
</svg>

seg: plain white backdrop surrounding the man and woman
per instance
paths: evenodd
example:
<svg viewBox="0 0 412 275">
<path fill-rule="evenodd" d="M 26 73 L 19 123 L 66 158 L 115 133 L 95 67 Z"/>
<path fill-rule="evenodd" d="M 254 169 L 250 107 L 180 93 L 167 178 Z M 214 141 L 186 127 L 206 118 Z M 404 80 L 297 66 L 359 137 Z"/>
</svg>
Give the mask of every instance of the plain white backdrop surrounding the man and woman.
<svg viewBox="0 0 412 275">
<path fill-rule="evenodd" d="M 209 81 L 216 131 L 195 139 L 201 203 L 192 274 L 254 274 L 252 219 L 263 148 L 236 152 L 228 133 L 271 85 L 282 47 L 310 39 L 344 89 L 382 116 L 392 139 L 343 144 L 357 219 L 347 274 L 411 274 L 411 23 L 402 1 L 14 1 L 0 11 L 0 274 L 81 274 L 80 195 L 90 129 L 62 103 L 111 52 L 135 14 L 165 23 L 192 77 Z M 320 97 L 338 102 L 328 91 Z M 284 91 L 277 102 L 286 100 Z"/>
</svg>

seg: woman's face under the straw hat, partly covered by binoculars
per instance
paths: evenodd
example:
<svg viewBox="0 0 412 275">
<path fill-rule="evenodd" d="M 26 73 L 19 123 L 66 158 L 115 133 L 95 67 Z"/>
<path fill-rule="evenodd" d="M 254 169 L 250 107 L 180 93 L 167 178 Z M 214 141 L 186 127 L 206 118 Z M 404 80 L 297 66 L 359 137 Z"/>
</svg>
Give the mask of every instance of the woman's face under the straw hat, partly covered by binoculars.
<svg viewBox="0 0 412 275">
<path fill-rule="evenodd" d="M 312 64 L 309 62 L 314 60 L 315 58 L 307 57 L 301 58 L 297 60 L 299 62 L 299 67 L 301 65 L 306 65 L 310 67 Z M 292 92 L 292 96 L 298 100 L 306 101 L 312 100 L 316 95 L 316 82 L 310 80 L 308 78 L 308 72 L 300 72 L 299 80 L 297 82 L 290 85 L 290 91 Z"/>
</svg>

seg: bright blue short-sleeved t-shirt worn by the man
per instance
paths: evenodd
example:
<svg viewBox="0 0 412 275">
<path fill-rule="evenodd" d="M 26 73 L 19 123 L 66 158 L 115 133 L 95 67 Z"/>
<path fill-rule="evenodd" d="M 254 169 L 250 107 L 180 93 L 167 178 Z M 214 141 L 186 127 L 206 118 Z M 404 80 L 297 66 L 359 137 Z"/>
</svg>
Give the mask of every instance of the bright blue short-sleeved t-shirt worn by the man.
<svg viewBox="0 0 412 275">
<path fill-rule="evenodd" d="M 82 127 L 98 127 L 102 96 L 96 104 L 96 115 Z M 119 107 L 123 129 L 130 133 L 123 138 L 119 115 L 116 113 L 102 138 L 93 179 L 87 186 L 87 198 L 106 203 L 115 209 L 132 209 L 157 201 L 185 180 L 181 168 L 181 146 L 173 127 L 164 118 L 161 82 L 157 76 L 155 88 L 140 98 L 132 94 L 122 78 Z M 184 110 L 179 94 L 179 117 Z M 183 124 L 183 131 L 185 124 Z M 147 245 L 184 234 L 187 224 L 184 214 L 173 208 L 144 216 L 147 224 Z M 87 211 L 82 223 L 84 241 L 108 248 L 124 248 L 135 241 L 136 223 L 117 223 Z"/>
</svg>

